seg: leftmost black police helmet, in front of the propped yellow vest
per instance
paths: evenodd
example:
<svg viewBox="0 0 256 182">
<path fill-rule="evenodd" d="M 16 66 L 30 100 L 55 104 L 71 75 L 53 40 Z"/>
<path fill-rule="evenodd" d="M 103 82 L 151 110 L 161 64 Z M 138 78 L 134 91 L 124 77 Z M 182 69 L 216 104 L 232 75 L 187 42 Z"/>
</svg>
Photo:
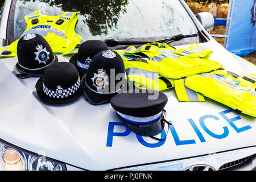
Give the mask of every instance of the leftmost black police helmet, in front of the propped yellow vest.
<svg viewBox="0 0 256 182">
<path fill-rule="evenodd" d="M 58 61 L 46 39 L 39 34 L 26 34 L 20 38 L 17 56 L 16 68 L 30 76 L 42 76 L 49 65 Z"/>
</svg>

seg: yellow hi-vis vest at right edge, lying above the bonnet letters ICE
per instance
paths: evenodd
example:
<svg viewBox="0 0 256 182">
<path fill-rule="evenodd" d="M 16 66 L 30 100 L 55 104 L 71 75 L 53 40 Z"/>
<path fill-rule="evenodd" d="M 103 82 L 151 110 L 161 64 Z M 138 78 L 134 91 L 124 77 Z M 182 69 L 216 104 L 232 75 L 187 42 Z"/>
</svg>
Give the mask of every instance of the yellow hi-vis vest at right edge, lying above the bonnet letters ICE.
<svg viewBox="0 0 256 182">
<path fill-rule="evenodd" d="M 256 75 L 238 76 L 225 70 L 189 76 L 185 86 L 206 97 L 256 117 Z"/>
</svg>

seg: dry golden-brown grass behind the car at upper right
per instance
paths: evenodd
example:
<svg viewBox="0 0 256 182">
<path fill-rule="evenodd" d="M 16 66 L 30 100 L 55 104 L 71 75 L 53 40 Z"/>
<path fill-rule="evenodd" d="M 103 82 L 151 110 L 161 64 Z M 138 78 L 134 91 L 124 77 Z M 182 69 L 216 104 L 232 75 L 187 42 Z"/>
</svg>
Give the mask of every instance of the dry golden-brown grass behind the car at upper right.
<svg viewBox="0 0 256 182">
<path fill-rule="evenodd" d="M 209 12 L 212 7 L 202 6 L 200 3 L 188 3 L 188 6 L 193 11 L 194 14 L 207 11 Z M 214 18 L 226 18 L 228 16 L 229 4 L 225 3 L 217 6 L 216 16 Z M 225 35 L 225 26 L 214 26 L 214 29 L 210 31 L 210 34 Z M 218 43 L 224 46 L 224 38 L 214 38 Z M 250 61 L 256 65 L 256 52 L 252 52 L 249 55 L 242 56 L 243 59 Z"/>
</svg>

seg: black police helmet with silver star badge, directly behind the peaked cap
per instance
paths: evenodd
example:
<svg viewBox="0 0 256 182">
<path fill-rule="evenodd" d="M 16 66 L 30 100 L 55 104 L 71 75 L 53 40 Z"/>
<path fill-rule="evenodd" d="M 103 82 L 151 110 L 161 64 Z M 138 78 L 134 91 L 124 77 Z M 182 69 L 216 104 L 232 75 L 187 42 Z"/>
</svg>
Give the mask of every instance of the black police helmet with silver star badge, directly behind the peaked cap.
<svg viewBox="0 0 256 182">
<path fill-rule="evenodd" d="M 117 78 L 116 79 L 116 77 Z M 109 102 L 125 84 L 125 66 L 122 57 L 113 51 L 101 51 L 93 57 L 86 75 L 82 78 L 82 90 L 93 105 Z"/>
</svg>

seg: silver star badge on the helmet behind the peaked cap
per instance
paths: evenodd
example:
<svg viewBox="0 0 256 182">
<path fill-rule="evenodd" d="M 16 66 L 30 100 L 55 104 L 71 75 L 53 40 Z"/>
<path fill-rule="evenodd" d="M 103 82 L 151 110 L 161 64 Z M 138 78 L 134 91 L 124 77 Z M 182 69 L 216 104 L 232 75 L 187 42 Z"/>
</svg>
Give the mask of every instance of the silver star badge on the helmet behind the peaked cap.
<svg viewBox="0 0 256 182">
<path fill-rule="evenodd" d="M 106 85 L 109 85 L 108 75 L 103 69 L 98 69 L 98 74 L 94 73 L 94 77 L 91 78 L 93 81 L 93 86 L 96 87 L 97 91 L 103 90 Z"/>
</svg>

